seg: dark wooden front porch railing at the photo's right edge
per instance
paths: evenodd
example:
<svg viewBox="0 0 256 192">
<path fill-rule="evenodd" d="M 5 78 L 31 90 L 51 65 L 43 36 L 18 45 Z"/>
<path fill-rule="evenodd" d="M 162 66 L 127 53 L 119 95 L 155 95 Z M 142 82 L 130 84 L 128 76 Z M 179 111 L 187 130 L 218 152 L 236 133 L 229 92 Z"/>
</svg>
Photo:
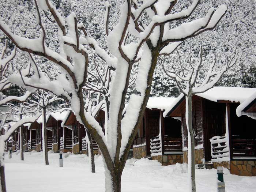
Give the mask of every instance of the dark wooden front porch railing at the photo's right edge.
<svg viewBox="0 0 256 192">
<path fill-rule="evenodd" d="M 232 136 L 233 157 L 256 157 L 256 137 Z"/>
</svg>

